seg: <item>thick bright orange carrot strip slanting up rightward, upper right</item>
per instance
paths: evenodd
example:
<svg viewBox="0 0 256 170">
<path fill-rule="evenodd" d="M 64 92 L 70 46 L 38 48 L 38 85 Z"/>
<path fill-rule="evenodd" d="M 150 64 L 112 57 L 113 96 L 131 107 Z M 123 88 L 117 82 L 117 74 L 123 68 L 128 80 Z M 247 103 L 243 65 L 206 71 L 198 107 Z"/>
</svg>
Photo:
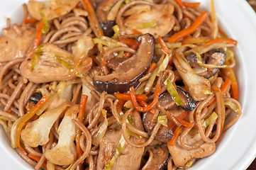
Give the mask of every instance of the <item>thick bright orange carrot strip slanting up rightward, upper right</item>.
<svg viewBox="0 0 256 170">
<path fill-rule="evenodd" d="M 192 25 L 189 28 L 181 30 L 178 33 L 172 35 L 172 37 L 168 39 L 168 42 L 177 42 L 177 40 L 184 38 L 185 36 L 191 33 L 194 33 L 196 28 L 199 28 L 199 26 L 201 26 L 201 24 L 204 23 L 204 21 L 208 17 L 208 14 L 208 11 L 201 13 L 201 15 L 198 18 L 196 18 L 194 23 L 192 23 Z"/>
</svg>

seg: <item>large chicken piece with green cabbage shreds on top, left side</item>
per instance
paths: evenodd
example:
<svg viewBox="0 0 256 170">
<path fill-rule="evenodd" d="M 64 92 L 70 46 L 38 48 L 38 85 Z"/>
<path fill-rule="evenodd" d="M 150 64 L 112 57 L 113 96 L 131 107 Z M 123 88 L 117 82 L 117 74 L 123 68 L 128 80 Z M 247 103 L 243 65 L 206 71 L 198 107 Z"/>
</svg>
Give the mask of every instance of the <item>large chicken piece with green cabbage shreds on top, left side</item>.
<svg viewBox="0 0 256 170">
<path fill-rule="evenodd" d="M 38 47 L 40 48 L 40 47 Z M 38 55 L 38 58 L 35 57 Z M 68 60 L 68 63 L 66 62 Z M 56 45 L 46 43 L 41 50 L 29 52 L 28 57 L 21 63 L 21 75 L 33 83 L 50 81 L 67 81 L 74 79 L 76 74 L 67 67 L 73 65 L 72 54 Z"/>
</svg>

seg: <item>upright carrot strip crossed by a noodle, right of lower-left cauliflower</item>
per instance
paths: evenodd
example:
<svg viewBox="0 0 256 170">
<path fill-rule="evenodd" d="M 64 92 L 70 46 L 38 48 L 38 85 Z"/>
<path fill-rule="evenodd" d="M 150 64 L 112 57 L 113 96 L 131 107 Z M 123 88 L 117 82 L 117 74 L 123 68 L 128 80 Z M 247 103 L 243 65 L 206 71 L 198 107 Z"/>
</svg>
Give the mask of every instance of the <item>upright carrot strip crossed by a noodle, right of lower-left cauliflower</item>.
<svg viewBox="0 0 256 170">
<path fill-rule="evenodd" d="M 84 120 L 84 110 L 85 110 L 85 106 L 87 105 L 87 99 L 88 99 L 88 96 L 82 94 L 81 100 L 80 100 L 80 105 L 79 105 L 79 113 L 77 116 L 80 122 L 83 122 L 83 120 Z M 77 146 L 77 156 L 78 157 L 81 157 L 83 154 L 83 151 L 79 145 L 80 136 L 81 136 L 81 130 L 78 129 L 77 136 L 76 136 L 76 144 L 77 144 L 76 146 Z"/>
</svg>

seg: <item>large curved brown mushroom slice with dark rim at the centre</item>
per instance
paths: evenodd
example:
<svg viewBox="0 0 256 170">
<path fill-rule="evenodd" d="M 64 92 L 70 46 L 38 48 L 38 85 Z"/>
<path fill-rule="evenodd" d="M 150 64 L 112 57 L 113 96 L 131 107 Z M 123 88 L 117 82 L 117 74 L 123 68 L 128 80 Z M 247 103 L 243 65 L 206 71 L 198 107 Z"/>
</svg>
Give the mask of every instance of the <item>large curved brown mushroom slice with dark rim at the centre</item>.
<svg viewBox="0 0 256 170">
<path fill-rule="evenodd" d="M 139 79 L 147 72 L 154 56 L 155 38 L 150 34 L 137 38 L 140 47 L 135 55 L 122 61 L 116 69 L 107 75 L 96 74 L 93 79 L 96 91 L 108 94 L 126 92 L 131 86 L 138 86 Z"/>
</svg>

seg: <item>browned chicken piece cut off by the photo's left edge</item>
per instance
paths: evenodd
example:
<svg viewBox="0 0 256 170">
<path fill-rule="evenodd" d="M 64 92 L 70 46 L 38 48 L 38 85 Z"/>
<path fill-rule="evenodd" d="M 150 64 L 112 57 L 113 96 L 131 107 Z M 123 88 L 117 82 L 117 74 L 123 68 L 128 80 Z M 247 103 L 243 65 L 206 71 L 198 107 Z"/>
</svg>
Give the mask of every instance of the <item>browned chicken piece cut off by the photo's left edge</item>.
<svg viewBox="0 0 256 170">
<path fill-rule="evenodd" d="M 4 28 L 0 36 L 0 62 L 9 62 L 25 57 L 35 37 L 34 28 L 13 24 L 12 28 Z"/>
</svg>

